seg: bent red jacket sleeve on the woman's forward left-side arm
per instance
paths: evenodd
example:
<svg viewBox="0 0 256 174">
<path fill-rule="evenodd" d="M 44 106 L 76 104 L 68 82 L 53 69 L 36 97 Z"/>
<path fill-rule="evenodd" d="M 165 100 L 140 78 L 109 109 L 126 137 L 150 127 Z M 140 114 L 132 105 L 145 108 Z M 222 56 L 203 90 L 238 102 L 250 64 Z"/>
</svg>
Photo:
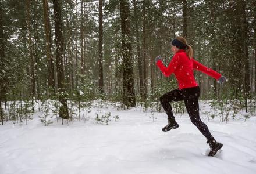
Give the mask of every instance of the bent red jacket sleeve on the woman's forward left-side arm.
<svg viewBox="0 0 256 174">
<path fill-rule="evenodd" d="M 162 71 L 163 75 L 165 75 L 166 77 L 169 77 L 179 66 L 179 55 L 173 56 L 168 67 L 165 67 L 165 65 L 162 63 L 161 60 L 158 60 L 157 66 Z"/>
</svg>

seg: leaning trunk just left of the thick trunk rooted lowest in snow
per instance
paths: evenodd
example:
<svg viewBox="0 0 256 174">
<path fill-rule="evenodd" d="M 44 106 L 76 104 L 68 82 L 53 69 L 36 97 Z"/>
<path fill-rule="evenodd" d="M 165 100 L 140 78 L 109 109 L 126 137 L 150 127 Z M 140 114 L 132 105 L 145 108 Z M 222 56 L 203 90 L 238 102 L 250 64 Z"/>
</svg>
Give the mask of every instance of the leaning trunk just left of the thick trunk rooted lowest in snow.
<svg viewBox="0 0 256 174">
<path fill-rule="evenodd" d="M 48 0 L 42 1 L 44 8 L 44 27 L 45 27 L 45 39 L 46 39 L 46 57 L 48 67 L 48 86 L 52 89 L 52 94 L 55 95 L 55 79 L 54 79 L 54 59 L 52 57 L 52 37 L 51 37 L 51 24 L 49 20 L 49 5 Z M 50 92 L 51 94 L 51 92 Z"/>
</svg>

